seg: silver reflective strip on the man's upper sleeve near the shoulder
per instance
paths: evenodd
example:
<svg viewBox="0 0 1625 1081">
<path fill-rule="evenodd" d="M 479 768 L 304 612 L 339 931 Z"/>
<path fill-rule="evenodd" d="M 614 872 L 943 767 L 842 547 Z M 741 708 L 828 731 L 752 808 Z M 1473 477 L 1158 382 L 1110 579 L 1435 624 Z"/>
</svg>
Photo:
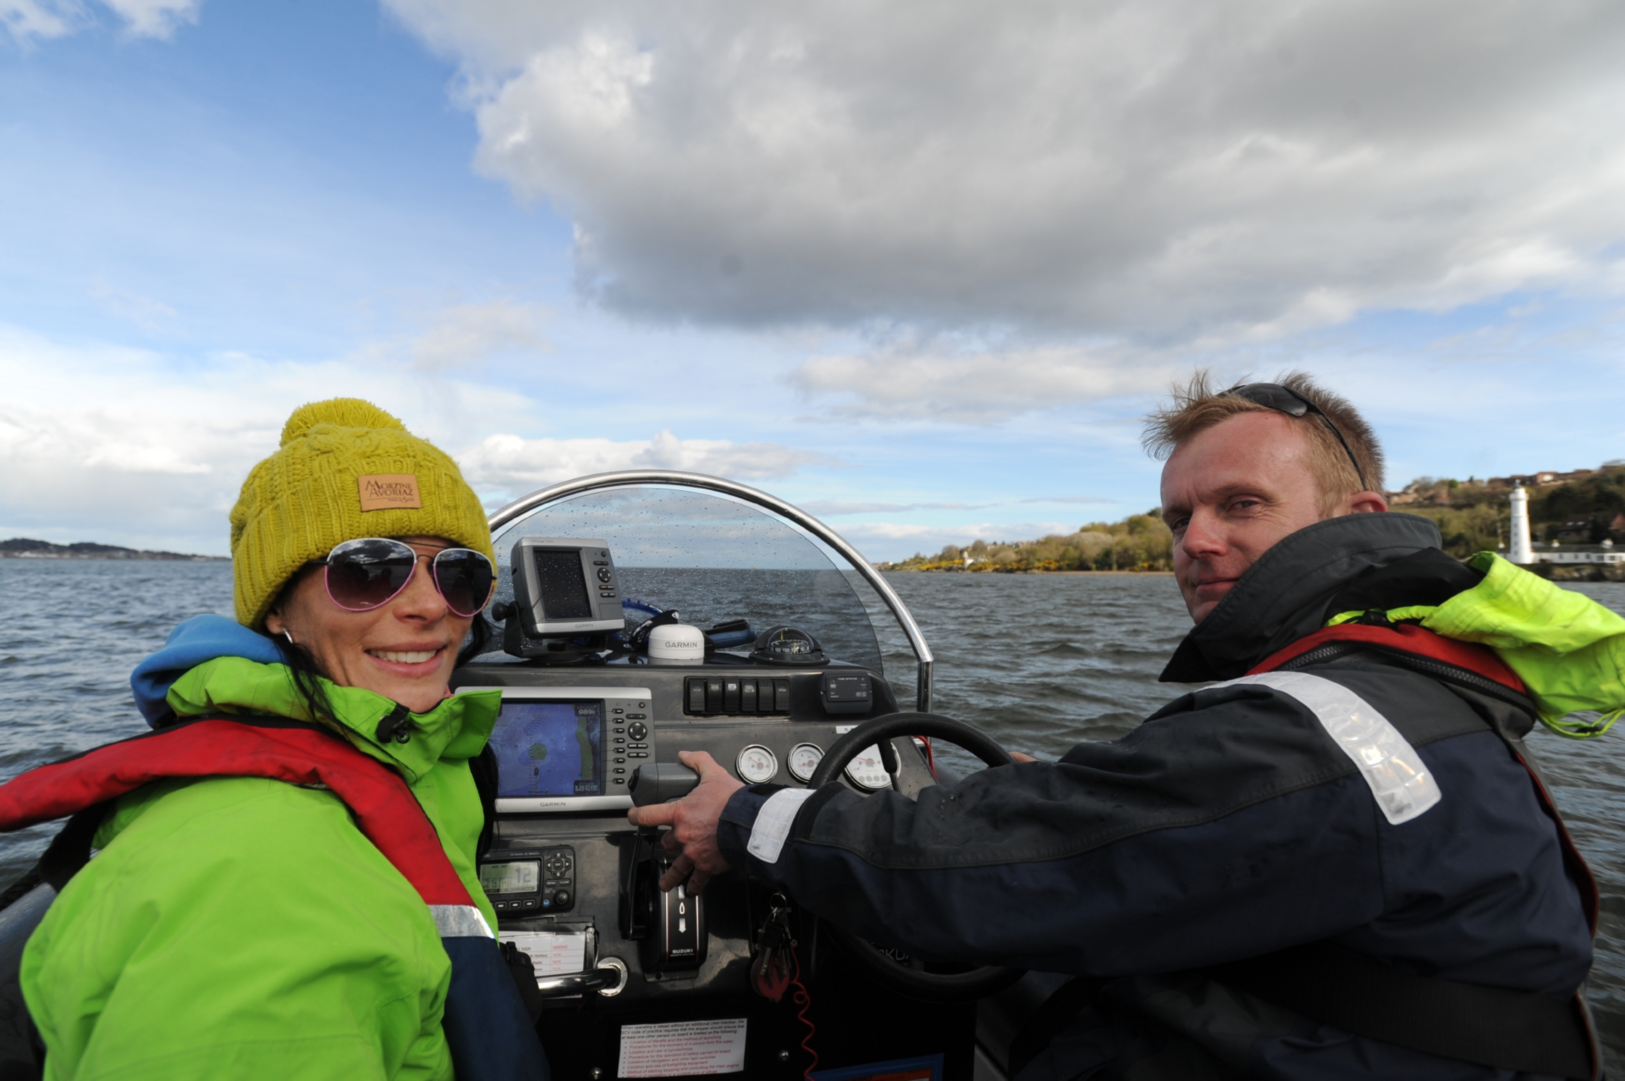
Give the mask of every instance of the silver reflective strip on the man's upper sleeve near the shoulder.
<svg viewBox="0 0 1625 1081">
<path fill-rule="evenodd" d="M 1349 688 L 1302 671 L 1264 671 L 1216 686 L 1256 683 L 1302 702 L 1349 756 L 1389 824 L 1409 823 L 1440 801 L 1438 782 L 1422 756 L 1386 717 Z"/>
</svg>

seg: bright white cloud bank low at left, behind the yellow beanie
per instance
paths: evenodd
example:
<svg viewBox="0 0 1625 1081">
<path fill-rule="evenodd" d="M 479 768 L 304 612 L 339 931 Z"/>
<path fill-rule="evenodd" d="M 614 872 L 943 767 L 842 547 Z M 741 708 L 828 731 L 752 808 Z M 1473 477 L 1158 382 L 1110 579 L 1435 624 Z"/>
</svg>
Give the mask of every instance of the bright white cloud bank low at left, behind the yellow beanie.
<svg viewBox="0 0 1625 1081">
<path fill-rule="evenodd" d="M 0 325 L 0 528 L 223 554 L 244 476 L 299 405 L 377 402 L 440 447 L 535 416 L 500 387 L 356 361 L 270 363 L 63 345 Z M 0 533 L 0 536 L 8 533 Z"/>
</svg>

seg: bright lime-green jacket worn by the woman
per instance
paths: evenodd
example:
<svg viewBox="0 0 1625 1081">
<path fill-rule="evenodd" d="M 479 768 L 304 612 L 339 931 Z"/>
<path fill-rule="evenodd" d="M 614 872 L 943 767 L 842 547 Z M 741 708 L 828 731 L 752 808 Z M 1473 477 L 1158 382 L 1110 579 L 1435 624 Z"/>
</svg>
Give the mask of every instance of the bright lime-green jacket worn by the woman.
<svg viewBox="0 0 1625 1081">
<path fill-rule="evenodd" d="M 323 686 L 351 743 L 411 785 L 496 927 L 468 761 L 499 692 L 447 697 L 413 714 L 406 743 L 379 745 L 395 702 Z M 187 671 L 169 705 L 309 720 L 284 666 L 239 657 Z M 117 801 L 96 847 L 23 954 L 47 1081 L 452 1076 L 450 962 L 434 918 L 333 793 L 257 777 L 158 782 Z"/>
</svg>

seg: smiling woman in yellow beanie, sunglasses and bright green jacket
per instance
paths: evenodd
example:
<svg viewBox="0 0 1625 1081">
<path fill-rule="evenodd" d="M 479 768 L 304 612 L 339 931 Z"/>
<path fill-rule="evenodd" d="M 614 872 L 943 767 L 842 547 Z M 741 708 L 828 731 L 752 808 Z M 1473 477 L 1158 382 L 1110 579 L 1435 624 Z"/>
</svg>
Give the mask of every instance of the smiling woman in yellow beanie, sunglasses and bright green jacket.
<svg viewBox="0 0 1625 1081">
<path fill-rule="evenodd" d="M 83 805 L 62 836 L 101 850 L 23 957 L 46 1076 L 546 1078 L 476 873 L 499 696 L 447 689 L 494 582 L 479 499 L 388 413 L 320 402 L 231 549 L 237 623 L 132 676 L 154 733 L 0 787 Z"/>
</svg>

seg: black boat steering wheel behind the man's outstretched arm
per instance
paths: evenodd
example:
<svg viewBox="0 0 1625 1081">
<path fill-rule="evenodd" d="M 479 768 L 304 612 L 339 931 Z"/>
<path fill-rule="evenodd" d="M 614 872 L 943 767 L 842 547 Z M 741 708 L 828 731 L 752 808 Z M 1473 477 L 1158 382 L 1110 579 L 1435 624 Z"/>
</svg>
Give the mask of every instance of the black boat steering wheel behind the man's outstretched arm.
<svg viewBox="0 0 1625 1081">
<path fill-rule="evenodd" d="M 819 788 L 842 775 L 847 764 L 866 746 L 878 745 L 881 761 L 895 779 L 897 759 L 890 741 L 897 736 L 930 736 L 960 746 L 988 766 L 1009 766 L 1016 759 L 1001 748 L 990 735 L 952 717 L 939 714 L 887 714 L 866 720 L 842 738 L 824 754 L 824 759 L 812 771 L 808 788 Z M 999 966 L 926 966 L 918 957 L 900 954 L 871 943 L 852 931 L 824 920 L 824 927 L 838 941 L 852 959 L 876 982 L 894 992 L 921 998 L 925 1001 L 970 1001 L 985 998 L 1004 990 L 1022 977 L 1022 969 L 1006 969 Z M 949 969 L 949 970 L 931 970 Z"/>
</svg>

